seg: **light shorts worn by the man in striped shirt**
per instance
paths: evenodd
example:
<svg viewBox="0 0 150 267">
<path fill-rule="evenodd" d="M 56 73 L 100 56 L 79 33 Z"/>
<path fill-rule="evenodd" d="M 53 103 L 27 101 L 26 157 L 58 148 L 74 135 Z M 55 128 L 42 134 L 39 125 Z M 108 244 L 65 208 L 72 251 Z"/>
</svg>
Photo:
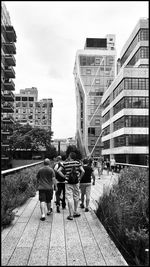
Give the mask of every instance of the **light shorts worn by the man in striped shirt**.
<svg viewBox="0 0 150 267">
<path fill-rule="evenodd" d="M 80 197 L 79 184 L 65 184 L 66 189 L 66 199 L 70 202 L 72 197 L 74 200 L 78 201 Z"/>
</svg>

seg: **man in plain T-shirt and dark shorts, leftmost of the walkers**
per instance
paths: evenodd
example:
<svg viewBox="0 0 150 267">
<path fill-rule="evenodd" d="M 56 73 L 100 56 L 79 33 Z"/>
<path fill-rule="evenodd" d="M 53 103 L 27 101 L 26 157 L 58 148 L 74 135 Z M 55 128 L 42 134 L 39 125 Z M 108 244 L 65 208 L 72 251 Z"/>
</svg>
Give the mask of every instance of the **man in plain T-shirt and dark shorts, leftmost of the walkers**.
<svg viewBox="0 0 150 267">
<path fill-rule="evenodd" d="M 53 198 L 53 190 L 57 191 L 57 181 L 54 170 L 50 167 L 50 160 L 44 160 L 44 166 L 37 173 L 37 190 L 39 191 L 39 201 L 41 209 L 40 220 L 45 221 L 45 211 L 47 206 L 47 215 L 52 212 L 51 200 Z"/>
</svg>

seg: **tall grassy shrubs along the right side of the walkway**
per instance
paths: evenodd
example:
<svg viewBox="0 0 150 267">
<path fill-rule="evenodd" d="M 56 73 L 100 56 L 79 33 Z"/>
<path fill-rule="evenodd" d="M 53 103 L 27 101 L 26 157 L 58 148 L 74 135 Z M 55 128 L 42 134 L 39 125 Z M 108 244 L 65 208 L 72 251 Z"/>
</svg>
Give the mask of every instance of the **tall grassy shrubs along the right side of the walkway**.
<svg viewBox="0 0 150 267">
<path fill-rule="evenodd" d="M 119 174 L 118 184 L 100 198 L 97 216 L 126 248 L 137 265 L 146 264 L 149 247 L 148 171 L 130 167 Z M 141 256 L 142 255 L 142 256 Z"/>
</svg>

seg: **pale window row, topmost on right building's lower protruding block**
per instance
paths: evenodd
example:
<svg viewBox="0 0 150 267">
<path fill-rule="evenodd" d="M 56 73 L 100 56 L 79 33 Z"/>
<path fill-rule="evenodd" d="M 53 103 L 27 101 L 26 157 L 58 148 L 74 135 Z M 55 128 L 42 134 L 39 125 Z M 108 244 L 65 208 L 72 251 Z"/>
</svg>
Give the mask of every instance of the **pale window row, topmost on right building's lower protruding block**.
<svg viewBox="0 0 150 267">
<path fill-rule="evenodd" d="M 149 90 L 149 79 L 124 78 L 113 91 L 113 99 L 123 90 Z"/>
</svg>

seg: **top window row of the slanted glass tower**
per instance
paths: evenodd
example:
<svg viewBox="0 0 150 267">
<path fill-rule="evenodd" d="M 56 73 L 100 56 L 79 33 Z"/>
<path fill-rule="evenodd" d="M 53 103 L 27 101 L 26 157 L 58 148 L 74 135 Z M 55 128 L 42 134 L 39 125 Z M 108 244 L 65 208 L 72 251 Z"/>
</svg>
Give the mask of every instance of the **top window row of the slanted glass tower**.
<svg viewBox="0 0 150 267">
<path fill-rule="evenodd" d="M 113 65 L 113 56 L 80 56 L 80 66 L 97 66 L 105 62 L 105 65 Z M 104 65 L 104 63 L 103 63 Z"/>
</svg>

